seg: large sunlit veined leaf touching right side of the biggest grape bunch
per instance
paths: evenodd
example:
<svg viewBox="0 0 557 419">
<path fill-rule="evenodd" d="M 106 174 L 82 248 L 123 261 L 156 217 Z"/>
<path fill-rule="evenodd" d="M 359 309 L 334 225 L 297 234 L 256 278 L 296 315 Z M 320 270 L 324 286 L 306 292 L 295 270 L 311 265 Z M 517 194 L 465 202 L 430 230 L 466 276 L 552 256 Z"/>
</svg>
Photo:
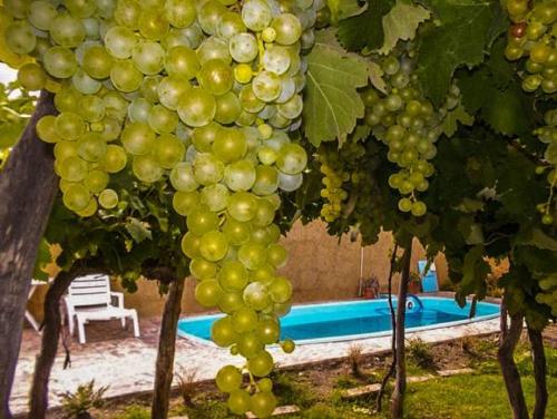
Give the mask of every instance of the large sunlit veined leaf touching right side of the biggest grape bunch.
<svg viewBox="0 0 557 419">
<path fill-rule="evenodd" d="M 316 43 L 307 56 L 304 131 L 314 146 L 335 138 L 342 144 L 362 118 L 356 89 L 368 84 L 368 67 L 359 59 Z"/>
</svg>

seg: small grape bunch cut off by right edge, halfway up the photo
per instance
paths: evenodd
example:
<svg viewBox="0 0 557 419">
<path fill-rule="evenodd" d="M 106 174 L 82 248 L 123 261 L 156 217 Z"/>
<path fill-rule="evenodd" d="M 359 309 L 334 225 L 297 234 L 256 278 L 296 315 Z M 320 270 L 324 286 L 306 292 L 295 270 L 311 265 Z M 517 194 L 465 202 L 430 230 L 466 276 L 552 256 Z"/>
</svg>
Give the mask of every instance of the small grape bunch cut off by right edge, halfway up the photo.
<svg viewBox="0 0 557 419">
<path fill-rule="evenodd" d="M 557 109 L 547 111 L 544 119 L 546 125 L 537 128 L 534 134 L 538 136 L 541 143 L 547 144 L 546 154 L 555 153 L 554 150 L 557 149 Z M 551 225 L 557 214 L 557 197 L 555 195 L 555 191 L 557 189 L 557 167 L 555 164 L 551 166 L 539 166 L 536 168 L 536 173 L 538 175 L 546 174 L 547 183 L 549 184 L 549 196 L 545 203 L 538 204 L 537 208 L 541 213 L 541 222 L 546 225 Z"/>
</svg>

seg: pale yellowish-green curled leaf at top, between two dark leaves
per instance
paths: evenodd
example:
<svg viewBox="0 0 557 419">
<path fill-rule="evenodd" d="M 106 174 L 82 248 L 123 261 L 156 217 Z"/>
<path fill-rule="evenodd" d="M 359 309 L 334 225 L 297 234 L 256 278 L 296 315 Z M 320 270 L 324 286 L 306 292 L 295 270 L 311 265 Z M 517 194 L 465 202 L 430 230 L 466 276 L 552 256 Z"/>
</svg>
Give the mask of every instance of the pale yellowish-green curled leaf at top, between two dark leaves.
<svg viewBox="0 0 557 419">
<path fill-rule="evenodd" d="M 420 23 L 430 16 L 431 12 L 421 6 L 409 0 L 397 0 L 389 13 L 383 16 L 384 41 L 379 53 L 391 52 L 399 39 L 412 40 Z"/>
</svg>

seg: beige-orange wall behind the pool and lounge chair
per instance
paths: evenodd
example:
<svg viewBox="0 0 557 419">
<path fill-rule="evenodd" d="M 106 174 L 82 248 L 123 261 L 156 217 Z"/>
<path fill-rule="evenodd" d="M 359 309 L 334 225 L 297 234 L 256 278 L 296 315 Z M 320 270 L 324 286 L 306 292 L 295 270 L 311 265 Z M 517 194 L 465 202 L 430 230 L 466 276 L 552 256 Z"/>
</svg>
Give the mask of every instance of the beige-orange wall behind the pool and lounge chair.
<svg viewBox="0 0 557 419">
<path fill-rule="evenodd" d="M 348 235 L 339 242 L 338 237 L 330 236 L 325 224 L 313 222 L 303 226 L 294 225 L 286 237 L 282 238 L 290 254 L 287 265 L 281 273 L 290 277 L 294 285 L 294 302 L 348 300 L 358 295 L 360 281 L 361 246 L 359 242 L 351 243 Z M 377 275 L 382 288 L 387 288 L 389 275 L 389 252 L 392 249 L 392 238 L 382 233 L 377 244 L 363 249 L 364 277 Z M 423 249 L 414 243 L 412 254 L 412 270 L 416 271 L 419 259 L 424 257 Z M 436 260 L 438 276 L 441 282 L 447 281 L 447 263 L 444 259 Z M 395 277 L 394 285 L 398 279 Z M 195 280 L 186 281 L 186 291 L 183 299 L 183 313 L 198 313 L 204 311 L 194 299 Z M 118 285 L 115 284 L 115 290 Z M 46 290 L 41 288 L 30 302 L 30 309 L 40 318 L 40 305 Z M 127 294 L 126 306 L 135 308 L 141 316 L 159 315 L 164 298 L 158 294 L 158 286 L 152 281 L 139 281 L 138 291 Z"/>
</svg>

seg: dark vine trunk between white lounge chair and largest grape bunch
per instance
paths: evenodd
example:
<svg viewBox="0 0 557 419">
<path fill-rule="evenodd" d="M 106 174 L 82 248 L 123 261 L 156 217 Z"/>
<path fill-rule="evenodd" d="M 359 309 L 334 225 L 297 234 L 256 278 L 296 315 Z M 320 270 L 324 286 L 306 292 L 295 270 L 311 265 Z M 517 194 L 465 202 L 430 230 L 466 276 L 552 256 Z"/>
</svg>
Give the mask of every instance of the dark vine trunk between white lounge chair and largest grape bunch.
<svg viewBox="0 0 557 419">
<path fill-rule="evenodd" d="M 155 371 L 155 389 L 150 410 L 152 419 L 166 419 L 170 399 L 170 386 L 174 378 L 174 353 L 176 352 L 176 333 L 182 310 L 184 279 L 175 280 L 166 298 L 160 334 L 158 338 L 157 364 Z"/>
</svg>

